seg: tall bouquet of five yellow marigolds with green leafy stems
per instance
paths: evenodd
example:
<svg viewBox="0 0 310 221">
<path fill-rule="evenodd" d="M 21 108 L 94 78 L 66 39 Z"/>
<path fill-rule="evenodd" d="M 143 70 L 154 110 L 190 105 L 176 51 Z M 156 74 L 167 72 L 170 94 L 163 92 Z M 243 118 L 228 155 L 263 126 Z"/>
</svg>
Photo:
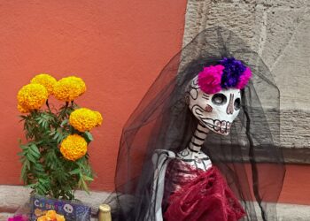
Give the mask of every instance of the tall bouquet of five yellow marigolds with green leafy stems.
<svg viewBox="0 0 310 221">
<path fill-rule="evenodd" d="M 21 179 L 33 194 L 57 199 L 74 199 L 74 190 L 88 192 L 94 179 L 89 164 L 89 132 L 102 123 L 98 111 L 80 108 L 74 100 L 86 91 L 81 78 L 56 80 L 46 73 L 38 74 L 30 84 L 20 88 L 18 110 L 23 113 L 27 143 L 21 143 Z M 53 95 L 64 105 L 51 107 Z M 43 106 L 46 105 L 46 108 Z"/>
</svg>

